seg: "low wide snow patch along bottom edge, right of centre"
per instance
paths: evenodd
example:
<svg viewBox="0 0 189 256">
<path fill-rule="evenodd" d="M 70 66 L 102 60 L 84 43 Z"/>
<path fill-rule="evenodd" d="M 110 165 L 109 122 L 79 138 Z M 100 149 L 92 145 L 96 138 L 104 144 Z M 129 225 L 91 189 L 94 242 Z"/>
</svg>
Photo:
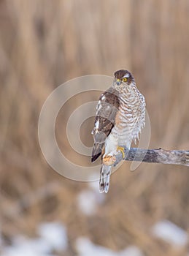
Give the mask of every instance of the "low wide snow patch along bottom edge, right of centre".
<svg viewBox="0 0 189 256">
<path fill-rule="evenodd" d="M 77 238 L 75 247 L 79 256 L 143 256 L 136 246 L 129 246 L 120 252 L 113 252 L 104 246 L 93 244 L 90 239 L 85 237 Z"/>
</svg>

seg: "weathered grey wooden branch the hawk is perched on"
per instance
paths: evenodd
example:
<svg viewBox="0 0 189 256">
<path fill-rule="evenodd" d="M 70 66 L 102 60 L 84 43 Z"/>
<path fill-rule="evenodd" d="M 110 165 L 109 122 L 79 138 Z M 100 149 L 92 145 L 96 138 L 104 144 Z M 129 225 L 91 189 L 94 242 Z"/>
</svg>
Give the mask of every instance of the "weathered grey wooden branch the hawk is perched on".
<svg viewBox="0 0 189 256">
<path fill-rule="evenodd" d="M 189 166 L 189 151 L 186 150 L 130 148 L 130 151 L 128 151 L 128 149 L 124 147 L 124 153 L 124 160 L 126 161 Z M 115 157 L 116 161 L 114 165 L 117 165 L 122 160 L 123 155 L 118 153 Z"/>
</svg>

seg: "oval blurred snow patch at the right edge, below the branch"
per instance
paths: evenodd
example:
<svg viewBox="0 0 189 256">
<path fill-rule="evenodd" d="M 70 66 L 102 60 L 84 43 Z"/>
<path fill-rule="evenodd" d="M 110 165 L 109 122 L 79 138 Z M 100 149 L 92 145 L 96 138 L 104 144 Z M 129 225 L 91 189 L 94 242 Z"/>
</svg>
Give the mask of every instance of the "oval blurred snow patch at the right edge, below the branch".
<svg viewBox="0 0 189 256">
<path fill-rule="evenodd" d="M 188 234 L 168 220 L 156 223 L 152 229 L 153 235 L 163 239 L 174 246 L 185 246 L 188 242 Z"/>
</svg>

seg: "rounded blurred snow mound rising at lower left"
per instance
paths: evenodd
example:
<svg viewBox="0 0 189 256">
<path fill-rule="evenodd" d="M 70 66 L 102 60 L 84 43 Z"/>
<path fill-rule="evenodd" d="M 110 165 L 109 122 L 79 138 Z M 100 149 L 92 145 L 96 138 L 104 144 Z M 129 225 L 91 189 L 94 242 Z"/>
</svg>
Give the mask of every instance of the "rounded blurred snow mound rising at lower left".
<svg viewBox="0 0 189 256">
<path fill-rule="evenodd" d="M 45 222 L 38 227 L 39 236 L 55 251 L 65 251 L 68 246 L 66 227 L 61 222 Z"/>
</svg>

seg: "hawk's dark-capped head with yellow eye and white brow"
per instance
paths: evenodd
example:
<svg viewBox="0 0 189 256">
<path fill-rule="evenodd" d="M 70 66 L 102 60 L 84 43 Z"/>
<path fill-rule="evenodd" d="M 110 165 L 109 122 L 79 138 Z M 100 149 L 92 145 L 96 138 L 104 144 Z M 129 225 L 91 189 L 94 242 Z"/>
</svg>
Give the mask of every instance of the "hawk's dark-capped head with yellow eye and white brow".
<svg viewBox="0 0 189 256">
<path fill-rule="evenodd" d="M 129 86 L 134 82 L 134 77 L 128 70 L 120 69 L 114 73 L 114 85 L 118 86 Z"/>
</svg>

